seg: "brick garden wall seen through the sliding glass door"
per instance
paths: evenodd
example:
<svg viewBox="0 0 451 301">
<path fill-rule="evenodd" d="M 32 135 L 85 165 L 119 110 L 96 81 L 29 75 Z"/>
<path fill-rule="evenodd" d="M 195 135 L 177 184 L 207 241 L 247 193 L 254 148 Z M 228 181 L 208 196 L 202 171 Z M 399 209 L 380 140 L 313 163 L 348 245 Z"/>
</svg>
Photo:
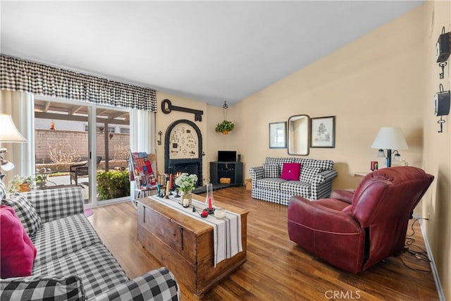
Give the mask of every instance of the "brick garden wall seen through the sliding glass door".
<svg viewBox="0 0 451 301">
<path fill-rule="evenodd" d="M 49 149 L 62 152 L 62 154 L 74 154 L 80 160 L 87 159 L 87 132 L 75 130 L 35 130 L 36 164 L 51 163 Z M 113 133 L 109 142 L 110 159 L 127 159 L 124 149 L 130 145 L 130 135 Z M 97 133 L 97 155 L 105 159 L 104 133 Z"/>
</svg>

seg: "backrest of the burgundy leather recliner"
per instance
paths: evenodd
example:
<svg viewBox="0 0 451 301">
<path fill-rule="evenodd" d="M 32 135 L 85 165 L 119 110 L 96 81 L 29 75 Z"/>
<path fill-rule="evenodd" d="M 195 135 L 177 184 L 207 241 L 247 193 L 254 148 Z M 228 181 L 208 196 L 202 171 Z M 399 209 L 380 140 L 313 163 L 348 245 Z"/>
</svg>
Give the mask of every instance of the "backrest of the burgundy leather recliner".
<svg viewBox="0 0 451 301">
<path fill-rule="evenodd" d="M 433 178 L 420 168 L 397 166 L 362 180 L 352 199 L 352 216 L 366 233 L 362 269 L 402 252 L 409 218 Z"/>
</svg>

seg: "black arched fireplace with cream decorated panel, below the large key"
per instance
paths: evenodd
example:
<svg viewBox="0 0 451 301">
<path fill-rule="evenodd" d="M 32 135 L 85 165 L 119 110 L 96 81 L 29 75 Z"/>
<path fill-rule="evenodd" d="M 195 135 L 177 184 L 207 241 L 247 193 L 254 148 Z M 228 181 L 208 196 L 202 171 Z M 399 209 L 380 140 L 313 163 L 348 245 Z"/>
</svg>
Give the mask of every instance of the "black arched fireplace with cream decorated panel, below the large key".
<svg viewBox="0 0 451 301">
<path fill-rule="evenodd" d="M 169 125 L 165 134 L 164 172 L 173 175 L 195 174 L 196 187 L 202 186 L 202 134 L 192 121 Z"/>
</svg>

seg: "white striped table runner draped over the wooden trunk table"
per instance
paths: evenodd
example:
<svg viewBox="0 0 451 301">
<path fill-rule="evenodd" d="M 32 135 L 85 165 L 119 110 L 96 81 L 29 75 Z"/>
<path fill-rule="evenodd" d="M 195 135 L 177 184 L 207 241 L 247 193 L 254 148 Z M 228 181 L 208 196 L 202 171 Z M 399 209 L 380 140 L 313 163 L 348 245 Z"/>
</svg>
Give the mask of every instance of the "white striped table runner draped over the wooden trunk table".
<svg viewBox="0 0 451 301">
<path fill-rule="evenodd" d="M 171 207 L 183 214 L 191 216 L 194 219 L 198 219 L 204 223 L 213 227 L 214 237 L 214 266 L 223 261 L 229 259 L 242 252 L 241 244 L 241 216 L 231 211 L 226 210 L 225 219 L 216 219 L 213 214 L 209 214 L 206 218 L 200 216 L 202 210 L 206 208 L 205 203 L 199 202 L 195 199 L 192 200 L 191 206 L 184 208 L 178 202 L 179 198 L 169 196 L 169 199 L 164 197 L 151 196 L 156 202 Z M 196 208 L 196 212 L 192 212 L 192 207 Z"/>
</svg>

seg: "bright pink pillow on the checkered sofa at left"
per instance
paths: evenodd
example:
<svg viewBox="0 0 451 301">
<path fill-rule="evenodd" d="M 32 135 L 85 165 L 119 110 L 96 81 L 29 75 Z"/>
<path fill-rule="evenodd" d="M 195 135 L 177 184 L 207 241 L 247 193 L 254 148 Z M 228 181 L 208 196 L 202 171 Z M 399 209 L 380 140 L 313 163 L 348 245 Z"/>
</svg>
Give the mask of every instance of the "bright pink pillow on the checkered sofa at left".
<svg viewBox="0 0 451 301">
<path fill-rule="evenodd" d="M 30 276 L 36 248 L 13 208 L 0 207 L 1 278 Z"/>
</svg>

